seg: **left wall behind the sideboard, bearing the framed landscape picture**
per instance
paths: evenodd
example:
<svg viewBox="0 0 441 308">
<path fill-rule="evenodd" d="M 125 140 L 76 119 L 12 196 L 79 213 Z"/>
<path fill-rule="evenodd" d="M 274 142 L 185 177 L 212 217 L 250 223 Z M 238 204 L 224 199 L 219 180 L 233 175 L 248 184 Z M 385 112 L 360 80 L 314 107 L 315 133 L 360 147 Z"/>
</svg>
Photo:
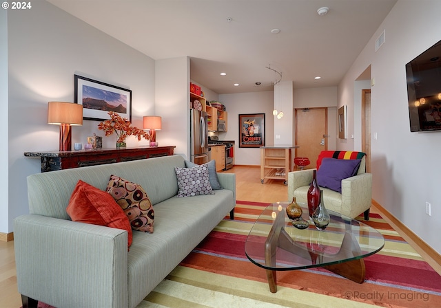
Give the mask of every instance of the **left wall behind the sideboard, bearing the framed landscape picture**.
<svg viewBox="0 0 441 308">
<path fill-rule="evenodd" d="M 5 51 L 4 12 L 0 15 L 1 60 Z M 0 220 L 0 232 L 4 233 L 12 232 L 14 217 L 28 213 L 26 177 L 41 171 L 40 159 L 24 157 L 23 153 L 59 148 L 59 126 L 47 124 L 47 105 L 50 100 L 73 102 L 75 73 L 132 89 L 134 126 L 142 127 L 143 115 L 154 113 L 155 98 L 152 58 L 46 1 L 32 2 L 32 10 L 7 12 L 8 97 L 6 91 L 0 95 L 3 110 L 9 102 L 8 128 L 3 131 L 9 130 L 8 194 L 14 197 L 9 199 L 8 208 L 0 208 L 0 217 L 8 217 L 7 223 Z M 0 83 L 1 89 L 5 86 Z M 74 126 L 72 142 L 87 142 L 93 133 L 104 136 L 96 127 L 98 123 L 85 120 L 83 126 Z M 115 142 L 114 136 L 103 137 L 103 147 L 112 148 Z M 135 138 L 127 140 L 127 146 L 136 144 Z M 3 199 L 8 194 L 2 194 Z"/>
</svg>

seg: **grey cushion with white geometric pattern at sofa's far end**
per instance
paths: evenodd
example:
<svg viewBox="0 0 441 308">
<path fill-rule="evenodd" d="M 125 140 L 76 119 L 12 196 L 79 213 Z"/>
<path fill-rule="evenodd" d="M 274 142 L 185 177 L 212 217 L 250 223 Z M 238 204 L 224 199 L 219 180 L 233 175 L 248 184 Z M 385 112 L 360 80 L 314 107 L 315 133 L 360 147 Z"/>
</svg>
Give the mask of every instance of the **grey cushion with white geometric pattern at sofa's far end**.
<svg viewBox="0 0 441 308">
<path fill-rule="evenodd" d="M 214 194 L 205 164 L 191 168 L 174 167 L 174 170 L 178 179 L 178 197 Z"/>
</svg>

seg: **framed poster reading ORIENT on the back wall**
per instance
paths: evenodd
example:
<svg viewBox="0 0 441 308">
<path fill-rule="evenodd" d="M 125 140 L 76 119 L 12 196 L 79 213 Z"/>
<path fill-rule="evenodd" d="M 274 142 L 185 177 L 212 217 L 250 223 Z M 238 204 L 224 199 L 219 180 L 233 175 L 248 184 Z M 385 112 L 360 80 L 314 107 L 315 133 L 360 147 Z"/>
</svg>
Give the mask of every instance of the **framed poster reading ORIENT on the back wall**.
<svg viewBox="0 0 441 308">
<path fill-rule="evenodd" d="M 265 146 L 265 113 L 239 115 L 239 148 Z"/>
</svg>

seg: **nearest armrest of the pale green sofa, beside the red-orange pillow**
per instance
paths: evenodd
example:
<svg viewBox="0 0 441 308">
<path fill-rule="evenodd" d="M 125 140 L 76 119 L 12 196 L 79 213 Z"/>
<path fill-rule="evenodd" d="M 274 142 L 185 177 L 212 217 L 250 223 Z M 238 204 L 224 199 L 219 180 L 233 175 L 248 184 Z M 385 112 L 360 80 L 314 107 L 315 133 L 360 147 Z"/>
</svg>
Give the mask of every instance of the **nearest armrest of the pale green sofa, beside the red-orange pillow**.
<svg viewBox="0 0 441 308">
<path fill-rule="evenodd" d="M 36 214 L 14 219 L 19 293 L 55 307 L 127 307 L 127 231 Z"/>
</svg>

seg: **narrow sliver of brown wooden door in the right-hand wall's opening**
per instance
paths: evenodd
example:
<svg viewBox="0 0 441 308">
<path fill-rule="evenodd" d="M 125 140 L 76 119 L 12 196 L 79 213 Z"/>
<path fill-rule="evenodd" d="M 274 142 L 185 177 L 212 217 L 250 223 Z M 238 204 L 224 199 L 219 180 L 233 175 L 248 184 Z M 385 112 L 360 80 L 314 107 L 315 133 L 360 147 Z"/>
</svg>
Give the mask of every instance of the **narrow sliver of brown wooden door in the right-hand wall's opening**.
<svg viewBox="0 0 441 308">
<path fill-rule="evenodd" d="M 366 172 L 371 173 L 371 89 L 361 92 L 361 151 L 366 153 Z"/>
</svg>

